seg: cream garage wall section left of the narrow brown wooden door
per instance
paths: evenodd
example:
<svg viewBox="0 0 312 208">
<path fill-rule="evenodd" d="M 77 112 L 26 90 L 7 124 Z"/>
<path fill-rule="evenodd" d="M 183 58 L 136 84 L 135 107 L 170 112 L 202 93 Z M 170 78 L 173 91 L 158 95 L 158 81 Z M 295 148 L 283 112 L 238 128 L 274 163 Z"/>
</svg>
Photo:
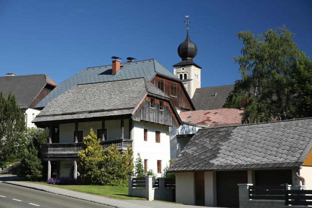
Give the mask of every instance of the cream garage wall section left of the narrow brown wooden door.
<svg viewBox="0 0 312 208">
<path fill-rule="evenodd" d="M 193 172 L 176 173 L 176 202 L 195 205 L 195 177 Z"/>
</svg>

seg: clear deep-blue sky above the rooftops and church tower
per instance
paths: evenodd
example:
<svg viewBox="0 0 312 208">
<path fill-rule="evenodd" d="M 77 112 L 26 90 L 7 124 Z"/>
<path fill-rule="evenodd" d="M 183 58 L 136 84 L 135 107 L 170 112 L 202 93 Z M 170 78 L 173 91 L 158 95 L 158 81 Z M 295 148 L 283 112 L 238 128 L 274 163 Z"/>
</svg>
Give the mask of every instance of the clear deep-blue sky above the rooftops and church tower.
<svg viewBox="0 0 312 208">
<path fill-rule="evenodd" d="M 60 83 L 112 56 L 155 58 L 173 72 L 178 45 L 197 44 L 202 87 L 240 78 L 236 32 L 285 25 L 312 57 L 312 1 L 14 1 L 0 0 L 0 76 L 45 73 Z"/>
</svg>

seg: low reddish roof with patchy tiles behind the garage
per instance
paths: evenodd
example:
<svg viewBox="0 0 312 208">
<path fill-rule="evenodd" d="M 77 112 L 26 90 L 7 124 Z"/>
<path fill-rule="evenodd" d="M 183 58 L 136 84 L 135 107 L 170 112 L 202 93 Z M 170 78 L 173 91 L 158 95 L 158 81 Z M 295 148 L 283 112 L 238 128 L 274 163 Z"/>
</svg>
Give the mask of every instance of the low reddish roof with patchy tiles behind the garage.
<svg viewBox="0 0 312 208">
<path fill-rule="evenodd" d="M 224 125 L 241 124 L 241 113 L 236 108 L 220 108 L 213 110 L 183 111 L 179 116 L 183 123 L 191 123 L 209 128 Z"/>
</svg>

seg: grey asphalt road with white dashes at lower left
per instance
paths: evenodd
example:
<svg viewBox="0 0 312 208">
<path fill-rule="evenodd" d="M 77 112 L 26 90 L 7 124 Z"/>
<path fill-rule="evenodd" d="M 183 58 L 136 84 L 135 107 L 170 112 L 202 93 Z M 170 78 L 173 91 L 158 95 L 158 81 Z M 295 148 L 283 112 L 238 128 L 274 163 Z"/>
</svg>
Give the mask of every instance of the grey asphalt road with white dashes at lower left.
<svg viewBox="0 0 312 208">
<path fill-rule="evenodd" d="M 0 183 L 0 207 L 101 207 L 112 208 L 90 201 Z"/>
</svg>

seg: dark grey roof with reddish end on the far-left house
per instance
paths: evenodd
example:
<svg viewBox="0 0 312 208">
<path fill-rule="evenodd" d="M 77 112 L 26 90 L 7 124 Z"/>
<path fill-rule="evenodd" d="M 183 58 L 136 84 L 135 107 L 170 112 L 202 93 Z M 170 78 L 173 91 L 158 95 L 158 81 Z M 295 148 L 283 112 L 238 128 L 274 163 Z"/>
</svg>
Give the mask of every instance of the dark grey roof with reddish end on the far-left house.
<svg viewBox="0 0 312 208">
<path fill-rule="evenodd" d="M 21 108 L 28 108 L 46 84 L 57 84 L 46 74 L 0 77 L 0 91 L 5 97 L 12 92 Z"/>
</svg>

